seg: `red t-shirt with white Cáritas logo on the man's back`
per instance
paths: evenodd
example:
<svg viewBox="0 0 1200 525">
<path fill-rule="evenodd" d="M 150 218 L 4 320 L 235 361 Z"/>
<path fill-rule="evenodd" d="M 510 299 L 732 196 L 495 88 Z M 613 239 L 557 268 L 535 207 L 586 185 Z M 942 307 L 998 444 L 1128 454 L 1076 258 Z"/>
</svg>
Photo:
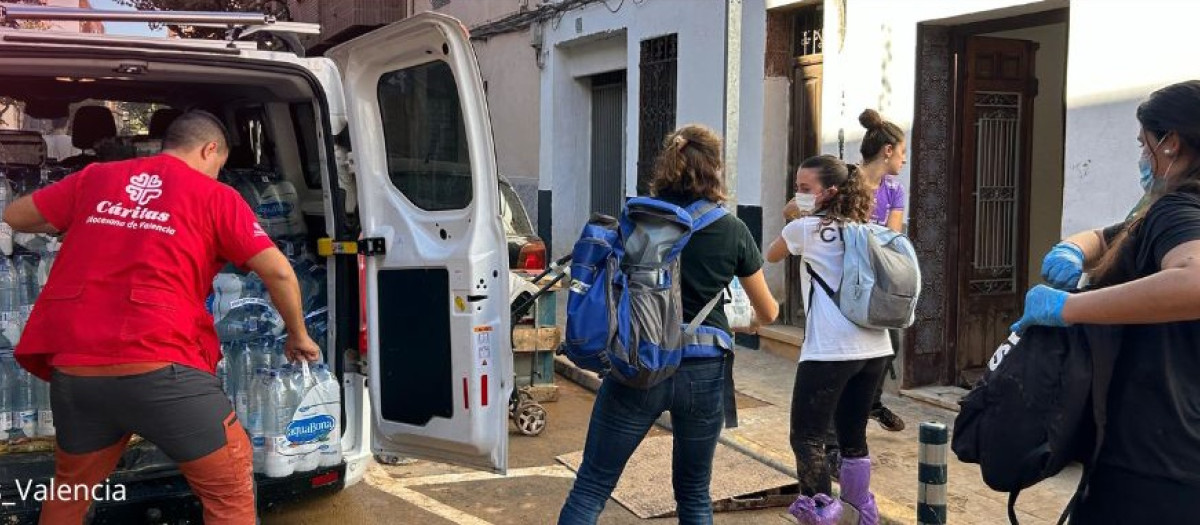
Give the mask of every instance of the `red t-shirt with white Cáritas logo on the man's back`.
<svg viewBox="0 0 1200 525">
<path fill-rule="evenodd" d="M 65 237 L 17 345 L 23 367 L 216 369 L 212 278 L 275 246 L 235 189 L 157 155 L 89 165 L 34 205 Z"/>
</svg>

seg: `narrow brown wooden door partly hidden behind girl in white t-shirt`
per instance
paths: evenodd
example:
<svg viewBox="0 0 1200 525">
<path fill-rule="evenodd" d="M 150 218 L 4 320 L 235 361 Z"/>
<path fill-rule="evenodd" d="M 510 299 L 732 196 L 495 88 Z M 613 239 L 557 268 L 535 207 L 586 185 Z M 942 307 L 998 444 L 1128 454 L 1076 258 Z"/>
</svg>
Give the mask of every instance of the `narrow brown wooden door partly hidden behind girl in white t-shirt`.
<svg viewBox="0 0 1200 525">
<path fill-rule="evenodd" d="M 792 115 L 790 119 L 787 151 L 787 180 L 781 188 L 780 206 L 796 194 L 796 169 L 805 158 L 821 152 L 821 55 L 806 55 L 796 60 L 792 68 Z M 787 258 L 787 303 L 784 322 L 799 325 L 804 320 L 804 291 L 802 290 L 803 265 Z"/>
</svg>

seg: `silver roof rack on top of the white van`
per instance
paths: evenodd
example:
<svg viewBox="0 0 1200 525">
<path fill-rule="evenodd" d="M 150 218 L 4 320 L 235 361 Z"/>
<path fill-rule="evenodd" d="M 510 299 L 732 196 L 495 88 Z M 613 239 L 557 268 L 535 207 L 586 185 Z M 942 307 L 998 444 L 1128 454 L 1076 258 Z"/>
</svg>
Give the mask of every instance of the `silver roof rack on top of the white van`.
<svg viewBox="0 0 1200 525">
<path fill-rule="evenodd" d="M 290 52 L 304 56 L 298 35 L 320 34 L 319 24 L 281 22 L 271 14 L 221 11 L 116 11 L 80 7 L 0 5 L 0 25 L 18 28 L 18 20 L 41 22 L 145 22 L 156 24 L 226 28 L 226 41 L 269 34 L 278 37 Z"/>
</svg>

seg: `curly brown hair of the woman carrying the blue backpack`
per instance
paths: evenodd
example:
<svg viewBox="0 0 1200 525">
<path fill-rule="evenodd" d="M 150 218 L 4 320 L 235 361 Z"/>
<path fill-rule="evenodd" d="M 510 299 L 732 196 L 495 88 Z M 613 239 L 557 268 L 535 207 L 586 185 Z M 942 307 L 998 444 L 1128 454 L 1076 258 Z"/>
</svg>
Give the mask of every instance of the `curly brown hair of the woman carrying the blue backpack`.
<svg viewBox="0 0 1200 525">
<path fill-rule="evenodd" d="M 716 132 L 688 125 L 662 140 L 654 161 L 650 194 L 672 193 L 721 203 L 726 199 L 721 177 L 721 138 Z"/>
</svg>

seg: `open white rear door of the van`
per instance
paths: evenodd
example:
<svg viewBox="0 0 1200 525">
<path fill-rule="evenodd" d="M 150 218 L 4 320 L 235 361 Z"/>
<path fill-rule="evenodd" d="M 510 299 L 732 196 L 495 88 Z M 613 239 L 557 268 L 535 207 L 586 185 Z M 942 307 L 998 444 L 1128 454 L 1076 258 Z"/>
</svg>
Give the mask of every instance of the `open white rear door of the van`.
<svg viewBox="0 0 1200 525">
<path fill-rule="evenodd" d="M 372 448 L 503 473 L 508 246 L 467 30 L 422 13 L 328 55 L 341 71 L 358 174 Z"/>
</svg>

